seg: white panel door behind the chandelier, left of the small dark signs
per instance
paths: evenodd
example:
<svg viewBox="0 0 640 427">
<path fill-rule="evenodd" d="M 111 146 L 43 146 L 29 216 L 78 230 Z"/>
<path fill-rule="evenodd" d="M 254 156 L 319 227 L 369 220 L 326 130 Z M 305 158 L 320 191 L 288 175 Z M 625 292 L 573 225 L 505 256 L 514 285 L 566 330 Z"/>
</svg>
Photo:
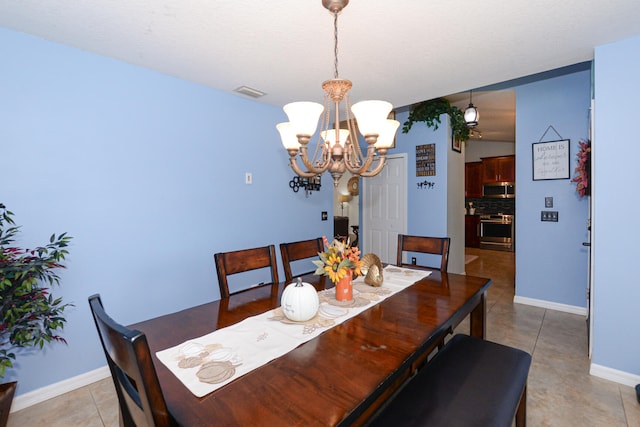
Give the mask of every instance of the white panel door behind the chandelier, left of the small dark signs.
<svg viewBox="0 0 640 427">
<path fill-rule="evenodd" d="M 362 253 L 395 264 L 398 234 L 407 230 L 407 155 L 387 157 L 385 168 L 362 180 Z"/>
</svg>

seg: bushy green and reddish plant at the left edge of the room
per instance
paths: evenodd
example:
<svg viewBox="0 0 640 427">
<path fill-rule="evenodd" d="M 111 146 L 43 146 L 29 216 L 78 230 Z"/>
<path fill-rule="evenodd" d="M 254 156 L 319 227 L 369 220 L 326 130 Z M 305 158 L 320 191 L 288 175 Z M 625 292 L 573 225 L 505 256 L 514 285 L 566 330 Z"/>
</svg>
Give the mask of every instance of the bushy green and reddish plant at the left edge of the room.
<svg viewBox="0 0 640 427">
<path fill-rule="evenodd" d="M 42 247 L 12 246 L 20 229 L 12 217 L 13 212 L 0 203 L 0 377 L 13 367 L 16 348 L 66 343 L 56 331 L 64 327 L 62 314 L 72 305 L 50 293 L 60 284 L 57 270 L 65 268 L 61 261 L 72 238 L 53 234 Z"/>
</svg>

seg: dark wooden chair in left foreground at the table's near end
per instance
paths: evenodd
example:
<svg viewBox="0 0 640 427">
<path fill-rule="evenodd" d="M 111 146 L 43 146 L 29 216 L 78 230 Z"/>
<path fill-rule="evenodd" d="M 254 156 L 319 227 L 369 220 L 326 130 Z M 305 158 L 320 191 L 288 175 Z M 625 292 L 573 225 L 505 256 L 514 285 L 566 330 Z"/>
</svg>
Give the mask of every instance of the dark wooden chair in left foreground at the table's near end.
<svg viewBox="0 0 640 427">
<path fill-rule="evenodd" d="M 116 323 L 99 294 L 89 297 L 107 364 L 118 395 L 121 426 L 173 426 L 145 335 Z"/>
</svg>

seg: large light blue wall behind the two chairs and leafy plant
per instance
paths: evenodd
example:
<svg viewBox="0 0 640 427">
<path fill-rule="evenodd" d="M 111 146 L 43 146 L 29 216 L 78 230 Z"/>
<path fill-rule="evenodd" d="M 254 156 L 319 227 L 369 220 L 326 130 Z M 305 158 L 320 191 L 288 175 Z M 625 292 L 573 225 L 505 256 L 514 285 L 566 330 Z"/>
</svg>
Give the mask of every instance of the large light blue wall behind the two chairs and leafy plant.
<svg viewBox="0 0 640 427">
<path fill-rule="evenodd" d="M 18 394 L 105 365 L 89 295 L 133 323 L 218 299 L 215 252 L 332 233 L 330 180 L 289 189 L 280 108 L 1 28 L 0 58 L 0 202 L 23 246 L 74 237 L 69 345 L 19 356 Z"/>
</svg>

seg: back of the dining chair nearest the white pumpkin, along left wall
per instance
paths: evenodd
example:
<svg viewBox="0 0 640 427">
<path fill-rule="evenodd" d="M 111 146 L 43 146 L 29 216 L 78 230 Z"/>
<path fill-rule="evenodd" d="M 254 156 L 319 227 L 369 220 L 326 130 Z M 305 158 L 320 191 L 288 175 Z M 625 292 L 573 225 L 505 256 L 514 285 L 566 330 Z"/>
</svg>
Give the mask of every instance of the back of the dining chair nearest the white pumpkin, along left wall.
<svg viewBox="0 0 640 427">
<path fill-rule="evenodd" d="M 227 298 L 232 293 L 241 292 L 244 289 L 230 292 L 228 276 L 243 273 L 260 268 L 269 268 L 271 278 L 269 281 L 260 282 L 261 285 L 278 284 L 278 264 L 276 248 L 274 245 L 259 248 L 241 249 L 231 252 L 218 252 L 214 255 L 216 271 L 218 273 L 218 285 L 220 286 L 220 298 Z"/>
</svg>

